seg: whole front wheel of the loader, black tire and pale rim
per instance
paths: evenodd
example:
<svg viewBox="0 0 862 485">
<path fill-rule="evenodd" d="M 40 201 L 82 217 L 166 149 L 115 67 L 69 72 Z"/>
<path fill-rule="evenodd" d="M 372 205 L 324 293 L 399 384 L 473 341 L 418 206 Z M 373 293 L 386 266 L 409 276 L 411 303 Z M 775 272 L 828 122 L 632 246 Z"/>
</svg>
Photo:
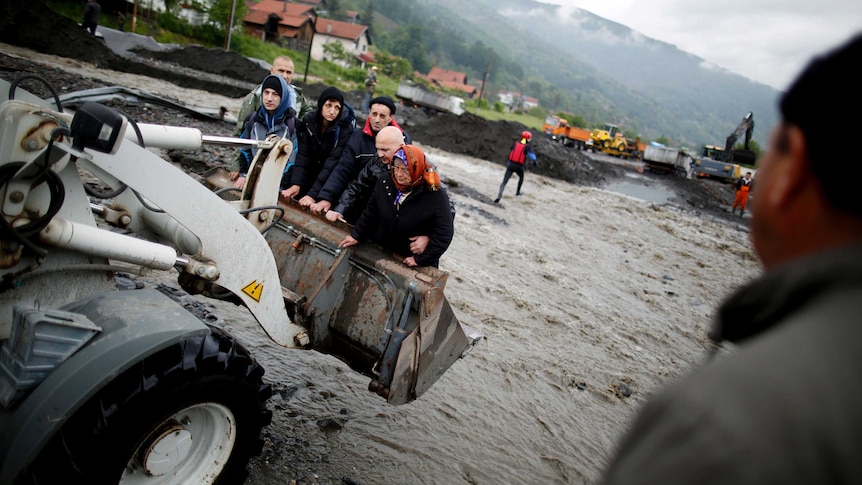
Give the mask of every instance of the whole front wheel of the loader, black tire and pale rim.
<svg viewBox="0 0 862 485">
<path fill-rule="evenodd" d="M 107 384 L 17 482 L 243 483 L 249 460 L 263 448 L 272 391 L 249 353 L 211 330 L 146 357 Z"/>
</svg>

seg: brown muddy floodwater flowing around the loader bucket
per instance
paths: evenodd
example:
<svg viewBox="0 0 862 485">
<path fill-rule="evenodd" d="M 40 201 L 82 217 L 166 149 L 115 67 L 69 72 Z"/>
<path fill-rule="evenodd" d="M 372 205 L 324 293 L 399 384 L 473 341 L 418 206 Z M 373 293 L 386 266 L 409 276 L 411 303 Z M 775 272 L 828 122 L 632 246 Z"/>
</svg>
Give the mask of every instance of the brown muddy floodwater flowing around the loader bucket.
<svg viewBox="0 0 862 485">
<path fill-rule="evenodd" d="M 458 210 L 446 294 L 487 339 L 392 407 L 217 303 L 276 390 L 248 483 L 595 482 L 638 406 L 704 358 L 721 298 L 759 272 L 739 226 L 529 173 L 525 195 L 512 181 L 493 204 L 498 165 L 429 153 Z"/>
</svg>

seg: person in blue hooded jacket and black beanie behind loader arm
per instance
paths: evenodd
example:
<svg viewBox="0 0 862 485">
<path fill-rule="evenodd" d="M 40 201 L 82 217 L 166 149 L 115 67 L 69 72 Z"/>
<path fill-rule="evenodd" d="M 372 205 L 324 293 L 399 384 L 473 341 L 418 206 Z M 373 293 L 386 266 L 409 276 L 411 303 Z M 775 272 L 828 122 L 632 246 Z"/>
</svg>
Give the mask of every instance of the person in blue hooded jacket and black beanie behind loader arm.
<svg viewBox="0 0 862 485">
<path fill-rule="evenodd" d="M 290 154 L 285 174 L 290 170 L 296 158 L 296 112 L 290 107 L 290 89 L 287 81 L 281 76 L 270 74 L 265 77 L 261 92 L 260 109 L 251 114 L 245 123 L 240 138 L 265 140 L 269 135 L 278 135 L 293 142 L 293 153 Z M 245 185 L 245 176 L 251 168 L 251 162 L 257 154 L 257 148 L 242 148 L 239 151 L 233 173 L 237 174 L 234 187 L 241 189 Z"/>
</svg>

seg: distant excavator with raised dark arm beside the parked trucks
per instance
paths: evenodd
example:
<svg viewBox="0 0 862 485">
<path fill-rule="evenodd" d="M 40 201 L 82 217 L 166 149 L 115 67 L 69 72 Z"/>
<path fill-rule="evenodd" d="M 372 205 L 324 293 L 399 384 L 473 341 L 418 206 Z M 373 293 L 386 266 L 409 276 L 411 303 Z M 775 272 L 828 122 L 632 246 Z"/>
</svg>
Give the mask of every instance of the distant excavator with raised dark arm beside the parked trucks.
<svg viewBox="0 0 862 485">
<path fill-rule="evenodd" d="M 732 182 L 738 179 L 742 170 L 740 164 L 753 165 L 756 156 L 749 149 L 751 134 L 754 131 L 754 113 L 746 114 L 733 132 L 728 135 L 724 148 L 704 145 L 700 158 L 694 161 L 694 175 L 699 178 L 714 178 Z M 737 140 L 745 135 L 742 150 L 735 150 Z"/>
</svg>

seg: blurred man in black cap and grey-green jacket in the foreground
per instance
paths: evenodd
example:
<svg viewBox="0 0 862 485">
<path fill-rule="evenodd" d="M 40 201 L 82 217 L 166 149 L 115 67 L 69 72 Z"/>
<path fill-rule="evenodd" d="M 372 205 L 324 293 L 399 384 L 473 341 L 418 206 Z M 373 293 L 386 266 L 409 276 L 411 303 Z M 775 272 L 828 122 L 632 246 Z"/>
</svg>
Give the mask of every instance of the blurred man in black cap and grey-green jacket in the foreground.
<svg viewBox="0 0 862 485">
<path fill-rule="evenodd" d="M 857 35 L 784 93 L 751 219 L 765 272 L 711 335 L 738 346 L 650 399 L 605 483 L 862 483 L 862 160 L 824 143 L 862 130 L 860 61 Z"/>
</svg>

